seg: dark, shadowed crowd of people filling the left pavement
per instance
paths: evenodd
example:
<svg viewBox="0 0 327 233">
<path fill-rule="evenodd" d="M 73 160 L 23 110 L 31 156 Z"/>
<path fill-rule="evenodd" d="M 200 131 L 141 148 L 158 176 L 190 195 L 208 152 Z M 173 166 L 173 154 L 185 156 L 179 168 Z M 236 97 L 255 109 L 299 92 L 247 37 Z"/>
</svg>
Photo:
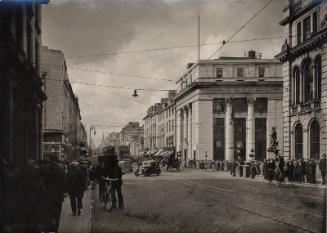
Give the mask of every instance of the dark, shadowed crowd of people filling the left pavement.
<svg viewBox="0 0 327 233">
<path fill-rule="evenodd" d="M 3 232 L 57 232 L 64 197 L 70 197 L 73 215 L 80 215 L 88 185 L 86 163 L 28 159 L 14 173 L 2 161 L 5 175 Z M 8 228 L 11 227 L 11 229 Z"/>
</svg>

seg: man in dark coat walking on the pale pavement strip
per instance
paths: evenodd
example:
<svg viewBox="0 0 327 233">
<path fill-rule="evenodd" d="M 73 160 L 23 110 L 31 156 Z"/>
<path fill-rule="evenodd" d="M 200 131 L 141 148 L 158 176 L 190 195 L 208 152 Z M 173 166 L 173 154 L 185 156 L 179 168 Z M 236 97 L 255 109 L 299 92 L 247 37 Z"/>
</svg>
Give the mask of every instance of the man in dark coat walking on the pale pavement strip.
<svg viewBox="0 0 327 233">
<path fill-rule="evenodd" d="M 77 161 L 71 162 L 68 167 L 67 183 L 70 205 L 73 215 L 80 215 L 83 209 L 82 199 L 85 190 L 85 174 L 83 165 Z"/>
</svg>

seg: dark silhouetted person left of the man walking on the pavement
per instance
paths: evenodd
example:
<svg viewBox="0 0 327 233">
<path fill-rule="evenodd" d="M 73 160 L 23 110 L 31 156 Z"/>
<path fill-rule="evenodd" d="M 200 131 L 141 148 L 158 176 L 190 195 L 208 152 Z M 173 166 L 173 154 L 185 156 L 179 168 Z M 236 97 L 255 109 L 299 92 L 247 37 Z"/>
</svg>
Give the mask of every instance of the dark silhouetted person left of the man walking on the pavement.
<svg viewBox="0 0 327 233">
<path fill-rule="evenodd" d="M 50 156 L 44 180 L 47 190 L 49 231 L 57 232 L 67 183 L 65 169 L 59 164 L 55 154 Z"/>
</svg>

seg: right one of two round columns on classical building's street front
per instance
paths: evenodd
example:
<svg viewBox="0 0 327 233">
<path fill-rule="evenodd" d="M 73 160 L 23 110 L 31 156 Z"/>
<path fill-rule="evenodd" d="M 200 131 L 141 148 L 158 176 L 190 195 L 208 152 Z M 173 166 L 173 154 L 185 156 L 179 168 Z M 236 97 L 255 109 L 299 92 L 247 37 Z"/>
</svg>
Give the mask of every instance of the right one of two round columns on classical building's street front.
<svg viewBox="0 0 327 233">
<path fill-rule="evenodd" d="M 246 160 L 250 160 L 251 150 L 255 150 L 255 98 L 248 98 L 248 115 L 246 118 Z"/>
</svg>

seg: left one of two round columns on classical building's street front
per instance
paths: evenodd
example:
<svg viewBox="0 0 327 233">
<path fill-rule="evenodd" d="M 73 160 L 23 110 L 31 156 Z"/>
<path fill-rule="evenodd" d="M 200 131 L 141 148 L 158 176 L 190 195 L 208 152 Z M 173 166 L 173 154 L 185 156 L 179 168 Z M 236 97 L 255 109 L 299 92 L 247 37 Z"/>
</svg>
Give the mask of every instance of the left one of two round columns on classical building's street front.
<svg viewBox="0 0 327 233">
<path fill-rule="evenodd" d="M 225 159 L 234 160 L 234 124 L 232 119 L 232 99 L 226 99 L 225 113 Z"/>
</svg>

